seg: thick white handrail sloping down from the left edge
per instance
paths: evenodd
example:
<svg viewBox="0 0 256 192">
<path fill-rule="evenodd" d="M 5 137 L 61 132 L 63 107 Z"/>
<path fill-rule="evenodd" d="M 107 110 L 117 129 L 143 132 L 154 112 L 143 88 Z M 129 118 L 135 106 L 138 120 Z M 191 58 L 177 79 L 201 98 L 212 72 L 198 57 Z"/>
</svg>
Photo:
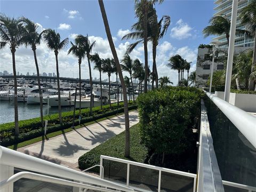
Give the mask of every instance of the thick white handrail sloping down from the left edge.
<svg viewBox="0 0 256 192">
<path fill-rule="evenodd" d="M 68 167 L 48 162 L 43 159 L 26 155 L 2 146 L 0 146 L 0 163 L 3 165 L 18 167 L 20 169 L 25 169 L 29 171 L 50 174 L 65 179 L 71 179 L 91 183 L 94 185 L 115 188 L 117 190 L 129 192 L 134 191 L 129 187 L 124 187 L 122 185 L 118 185 L 117 183 L 93 177 L 92 175 L 69 169 Z"/>
</svg>

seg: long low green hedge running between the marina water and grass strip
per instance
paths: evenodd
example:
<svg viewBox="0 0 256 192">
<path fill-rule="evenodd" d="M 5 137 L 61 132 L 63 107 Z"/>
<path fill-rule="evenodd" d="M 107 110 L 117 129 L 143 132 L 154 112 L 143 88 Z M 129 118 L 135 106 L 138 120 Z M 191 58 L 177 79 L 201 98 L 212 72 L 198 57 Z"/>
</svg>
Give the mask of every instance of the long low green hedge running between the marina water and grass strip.
<svg viewBox="0 0 256 192">
<path fill-rule="evenodd" d="M 134 104 L 129 105 L 129 110 L 136 109 L 137 106 Z M 112 105 L 112 110 L 109 106 L 103 106 L 101 110 L 100 107 L 93 108 L 93 116 L 89 116 L 90 109 L 82 109 L 82 119 L 81 124 L 95 121 L 97 119 L 115 115 L 117 113 L 122 113 L 124 111 L 123 103 L 120 103 L 119 108 L 117 109 L 117 104 Z M 53 114 L 50 116 L 44 116 L 44 119 L 49 119 L 47 126 L 47 133 L 67 129 L 73 124 L 73 112 L 64 112 L 62 113 L 62 125 L 59 124 L 58 114 Z M 21 122 L 21 123 L 20 123 Z M 0 140 L 1 146 L 10 146 L 16 143 L 26 141 L 39 137 L 44 134 L 44 131 L 41 127 L 41 122 L 39 118 L 27 119 L 20 121 L 20 134 L 18 137 L 14 136 L 14 123 L 5 123 L 1 125 Z M 75 126 L 79 124 L 78 120 L 78 110 L 76 110 L 76 120 Z"/>
</svg>

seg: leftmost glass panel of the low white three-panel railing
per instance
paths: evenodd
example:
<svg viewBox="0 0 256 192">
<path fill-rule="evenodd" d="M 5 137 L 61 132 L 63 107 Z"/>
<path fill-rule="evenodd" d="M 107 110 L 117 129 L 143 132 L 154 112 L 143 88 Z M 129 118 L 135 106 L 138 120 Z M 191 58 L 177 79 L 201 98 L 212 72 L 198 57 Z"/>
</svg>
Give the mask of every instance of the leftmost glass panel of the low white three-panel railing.
<svg viewBox="0 0 256 192">
<path fill-rule="evenodd" d="M 126 183 L 127 164 L 103 159 L 104 179 Z"/>
</svg>

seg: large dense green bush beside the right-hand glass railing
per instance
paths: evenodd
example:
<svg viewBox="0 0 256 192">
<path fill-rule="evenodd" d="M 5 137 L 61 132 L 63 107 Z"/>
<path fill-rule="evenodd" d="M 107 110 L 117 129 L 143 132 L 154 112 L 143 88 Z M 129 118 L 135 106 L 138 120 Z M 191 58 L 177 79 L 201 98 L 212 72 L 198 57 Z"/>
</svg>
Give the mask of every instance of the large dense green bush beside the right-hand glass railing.
<svg viewBox="0 0 256 192">
<path fill-rule="evenodd" d="M 203 92 L 194 87 L 165 87 L 137 99 L 142 142 L 156 153 L 180 154 L 193 134 Z"/>
</svg>

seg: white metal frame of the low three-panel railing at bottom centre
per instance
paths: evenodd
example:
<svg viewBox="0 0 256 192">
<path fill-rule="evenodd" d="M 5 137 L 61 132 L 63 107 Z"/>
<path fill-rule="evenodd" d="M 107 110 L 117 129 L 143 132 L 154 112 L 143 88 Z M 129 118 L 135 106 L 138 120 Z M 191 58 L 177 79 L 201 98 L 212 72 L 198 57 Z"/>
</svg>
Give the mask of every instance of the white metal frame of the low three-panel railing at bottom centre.
<svg viewBox="0 0 256 192">
<path fill-rule="evenodd" d="M 130 175 L 132 174 L 131 166 L 138 166 L 138 167 L 147 168 L 149 170 L 158 171 L 158 185 L 157 185 L 157 191 L 158 192 L 160 192 L 162 190 L 161 189 L 161 180 L 162 180 L 163 173 L 171 173 L 173 175 L 177 175 L 177 177 L 184 177 L 184 178 L 192 179 L 193 180 L 193 192 L 196 191 L 196 174 L 177 171 L 177 170 L 172 170 L 172 169 L 166 169 L 164 167 L 158 167 L 158 166 L 154 166 L 154 165 L 148 165 L 148 164 L 128 161 L 128 160 L 125 160 L 125 159 L 119 159 L 119 158 L 109 157 L 109 156 L 104 156 L 104 155 L 100 156 L 100 165 L 103 166 L 103 164 L 104 164 L 103 161 L 104 160 L 126 164 L 126 167 L 127 167 L 126 182 L 124 182 L 124 185 L 126 185 L 127 187 L 133 188 L 135 191 L 145 191 L 146 192 L 146 191 L 154 191 L 154 190 L 152 190 L 152 189 L 151 190 L 142 189 L 142 188 L 134 187 L 134 186 L 131 185 L 131 183 L 130 183 L 130 181 L 131 181 Z M 105 167 L 105 169 L 106 169 L 106 167 Z M 110 167 L 109 167 L 109 169 L 110 169 Z M 140 173 L 140 174 L 142 174 L 142 173 Z M 147 176 L 149 177 L 149 175 L 147 175 Z M 104 179 L 104 175 L 101 171 L 100 171 L 100 177 L 102 177 Z M 179 186 L 177 186 L 177 187 L 179 187 Z"/>
</svg>

